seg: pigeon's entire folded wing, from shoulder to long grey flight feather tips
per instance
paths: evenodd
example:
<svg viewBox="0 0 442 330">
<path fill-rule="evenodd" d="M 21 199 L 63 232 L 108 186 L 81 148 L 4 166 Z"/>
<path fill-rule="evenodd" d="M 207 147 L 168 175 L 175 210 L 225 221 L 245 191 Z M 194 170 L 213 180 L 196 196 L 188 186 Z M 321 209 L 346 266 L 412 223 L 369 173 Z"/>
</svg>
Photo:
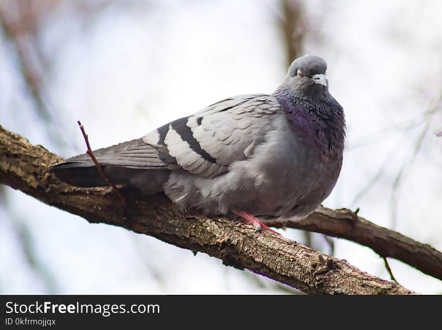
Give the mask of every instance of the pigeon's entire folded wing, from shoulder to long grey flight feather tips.
<svg viewBox="0 0 442 330">
<path fill-rule="evenodd" d="M 184 169 L 211 178 L 226 172 L 232 162 L 253 153 L 271 129 L 269 116 L 279 108 L 278 101 L 267 94 L 239 95 L 168 123 L 141 139 L 93 153 L 101 165 Z M 71 157 L 60 166 L 80 165 L 93 166 L 88 154 Z"/>
</svg>

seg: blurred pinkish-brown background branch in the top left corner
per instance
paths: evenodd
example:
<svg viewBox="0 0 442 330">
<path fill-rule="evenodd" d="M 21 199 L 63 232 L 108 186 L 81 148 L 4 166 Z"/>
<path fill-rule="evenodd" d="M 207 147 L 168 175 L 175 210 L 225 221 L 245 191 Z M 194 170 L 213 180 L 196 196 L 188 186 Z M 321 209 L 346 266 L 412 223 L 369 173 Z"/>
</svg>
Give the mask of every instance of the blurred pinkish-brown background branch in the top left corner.
<svg viewBox="0 0 442 330">
<path fill-rule="evenodd" d="M 70 142 L 66 139 L 59 115 L 52 111 L 49 93 L 45 88 L 45 76 L 50 69 L 50 62 L 42 49 L 39 40 L 40 29 L 47 17 L 55 12 L 63 3 L 69 3 L 76 12 L 87 16 L 98 12 L 112 0 L 95 2 L 69 0 L 14 0 L 0 2 L 0 26 L 5 37 L 16 51 L 18 64 L 30 98 L 35 105 L 38 117 L 46 123 L 49 138 L 57 142 L 59 147 L 66 147 Z"/>
</svg>

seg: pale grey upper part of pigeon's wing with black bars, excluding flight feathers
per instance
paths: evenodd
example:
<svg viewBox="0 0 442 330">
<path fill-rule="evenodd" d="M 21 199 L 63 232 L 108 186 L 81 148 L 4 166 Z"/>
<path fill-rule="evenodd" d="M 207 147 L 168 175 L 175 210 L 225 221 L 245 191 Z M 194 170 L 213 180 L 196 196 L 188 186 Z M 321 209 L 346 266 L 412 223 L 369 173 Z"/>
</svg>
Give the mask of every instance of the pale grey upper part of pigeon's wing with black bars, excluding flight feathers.
<svg viewBox="0 0 442 330">
<path fill-rule="evenodd" d="M 272 129 L 269 117 L 279 108 L 276 98 L 267 94 L 239 95 L 166 124 L 143 141 L 158 149 L 169 168 L 211 178 L 252 155 Z"/>
</svg>

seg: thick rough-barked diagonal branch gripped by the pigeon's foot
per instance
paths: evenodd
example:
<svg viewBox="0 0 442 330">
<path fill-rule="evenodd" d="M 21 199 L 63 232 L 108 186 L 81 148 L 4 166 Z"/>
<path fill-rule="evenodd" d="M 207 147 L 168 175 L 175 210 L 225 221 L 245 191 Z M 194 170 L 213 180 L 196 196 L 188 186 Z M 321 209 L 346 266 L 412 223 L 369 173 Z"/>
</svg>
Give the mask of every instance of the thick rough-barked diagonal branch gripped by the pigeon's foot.
<svg viewBox="0 0 442 330">
<path fill-rule="evenodd" d="M 84 217 L 90 223 L 126 227 L 124 207 L 109 188 L 82 189 L 57 180 L 48 169 L 63 159 L 0 126 L 0 183 Z M 414 294 L 339 260 L 270 232 L 196 210 L 177 209 L 164 195 L 133 200 L 132 231 L 248 269 L 310 294 Z M 341 211 L 326 210 L 327 220 Z M 314 219 L 317 214 L 314 213 Z M 324 216 L 324 215 L 320 215 Z M 309 217 L 310 218 L 310 217 Z M 344 221 L 345 222 L 345 221 Z M 319 222 L 316 224 L 319 225 Z"/>
</svg>

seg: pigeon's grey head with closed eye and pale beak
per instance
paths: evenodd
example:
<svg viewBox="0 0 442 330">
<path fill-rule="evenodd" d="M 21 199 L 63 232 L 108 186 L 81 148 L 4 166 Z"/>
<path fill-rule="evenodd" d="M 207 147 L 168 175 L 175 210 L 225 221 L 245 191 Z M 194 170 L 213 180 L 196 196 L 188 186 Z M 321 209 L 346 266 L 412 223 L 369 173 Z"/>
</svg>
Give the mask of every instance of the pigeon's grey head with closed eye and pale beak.
<svg viewBox="0 0 442 330">
<path fill-rule="evenodd" d="M 327 63 L 322 57 L 304 55 L 292 62 L 284 82 L 296 95 L 319 96 L 328 91 L 326 70 Z"/>
</svg>

